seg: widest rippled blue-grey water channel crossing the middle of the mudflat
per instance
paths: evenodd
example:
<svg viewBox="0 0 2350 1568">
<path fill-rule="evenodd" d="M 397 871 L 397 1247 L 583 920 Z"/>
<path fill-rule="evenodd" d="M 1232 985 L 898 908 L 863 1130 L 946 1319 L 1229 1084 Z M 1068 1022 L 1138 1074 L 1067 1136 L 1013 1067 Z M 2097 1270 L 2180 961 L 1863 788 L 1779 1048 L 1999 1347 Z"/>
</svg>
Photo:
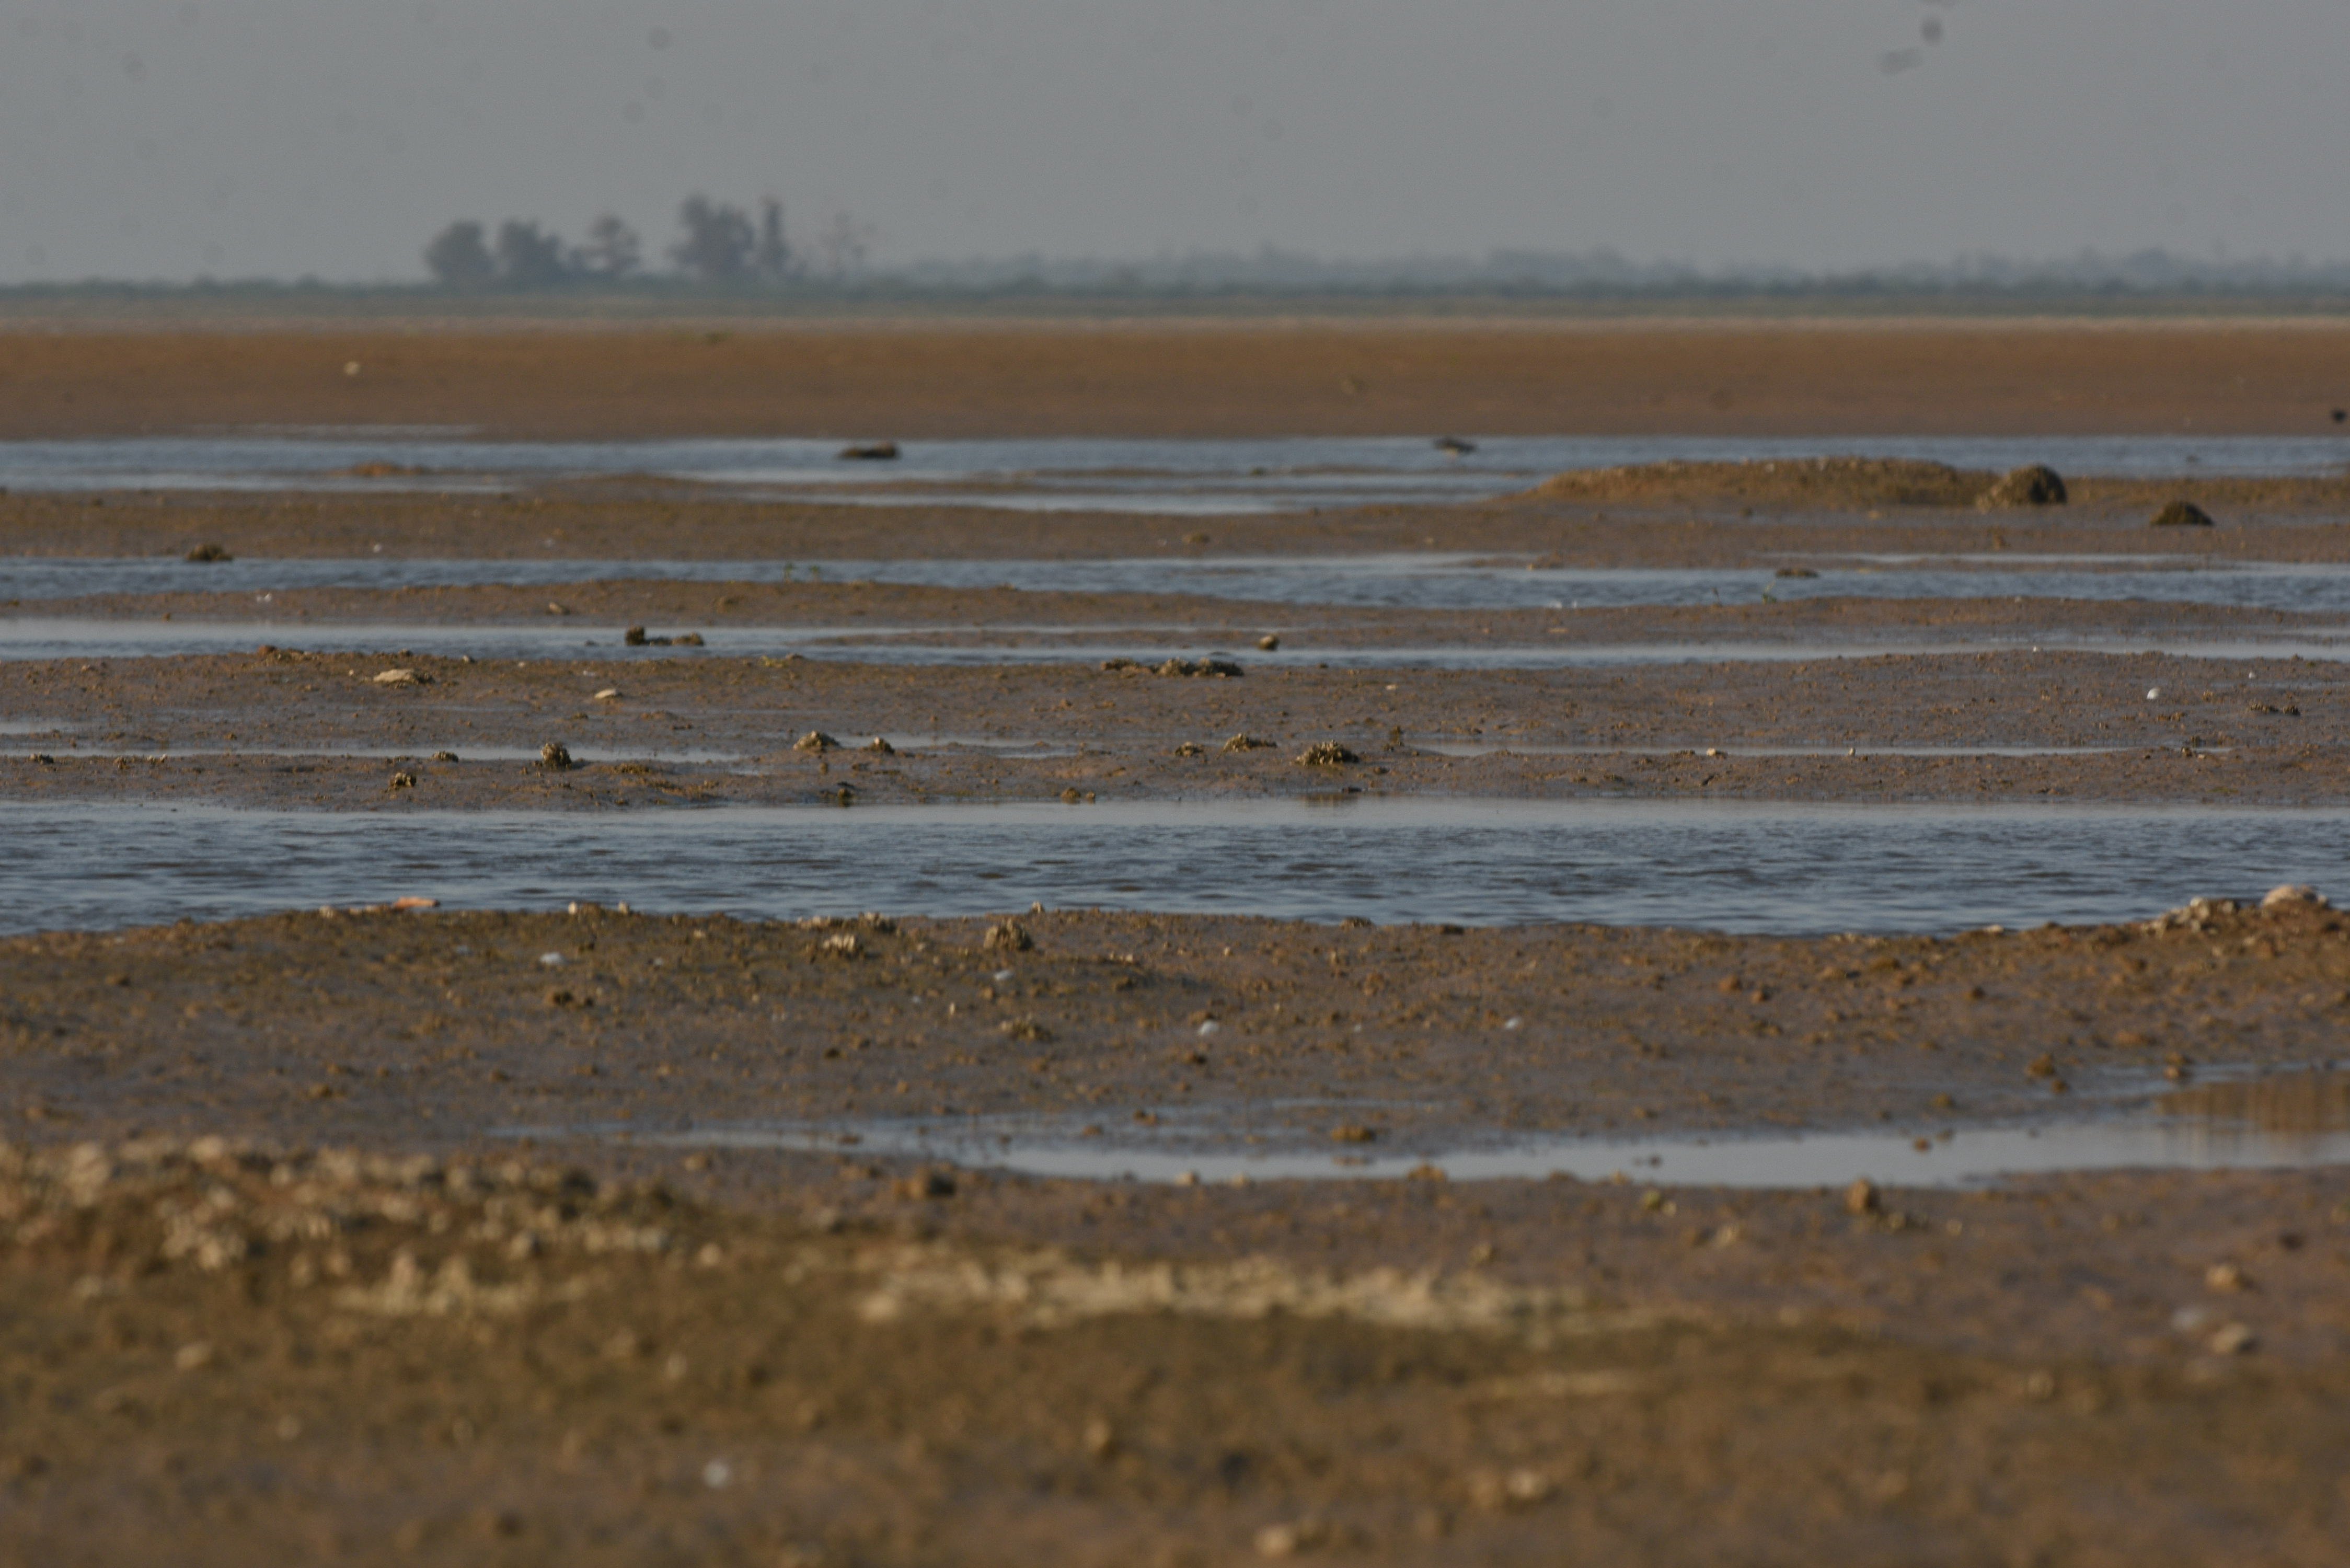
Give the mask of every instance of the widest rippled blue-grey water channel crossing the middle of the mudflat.
<svg viewBox="0 0 2350 1568">
<path fill-rule="evenodd" d="M 425 764 L 430 773 L 430 764 Z M 430 783 L 430 780 L 428 780 Z M 1048 907 L 1292 919 L 1958 931 L 2350 889 L 2350 811 L 1751 802 L 653 806 L 0 804 L 0 929 L 430 896 L 738 917 Z"/>
</svg>

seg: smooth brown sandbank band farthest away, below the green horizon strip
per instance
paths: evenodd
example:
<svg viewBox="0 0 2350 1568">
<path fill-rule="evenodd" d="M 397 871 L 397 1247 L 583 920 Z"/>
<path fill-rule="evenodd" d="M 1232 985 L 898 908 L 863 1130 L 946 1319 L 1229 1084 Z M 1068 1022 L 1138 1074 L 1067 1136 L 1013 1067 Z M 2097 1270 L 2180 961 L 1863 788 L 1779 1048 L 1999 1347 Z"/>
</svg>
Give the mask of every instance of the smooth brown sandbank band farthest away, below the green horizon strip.
<svg viewBox="0 0 2350 1568">
<path fill-rule="evenodd" d="M 2317 435 L 2345 364 L 2338 322 L 16 331 L 0 437 Z"/>
</svg>

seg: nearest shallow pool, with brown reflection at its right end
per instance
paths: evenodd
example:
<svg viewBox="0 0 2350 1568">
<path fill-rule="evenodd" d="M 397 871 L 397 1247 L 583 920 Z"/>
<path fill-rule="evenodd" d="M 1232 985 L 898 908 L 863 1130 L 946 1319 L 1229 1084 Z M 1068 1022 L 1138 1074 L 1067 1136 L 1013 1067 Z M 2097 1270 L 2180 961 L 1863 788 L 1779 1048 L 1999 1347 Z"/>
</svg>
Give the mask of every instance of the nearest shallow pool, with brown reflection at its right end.
<svg viewBox="0 0 2350 1568">
<path fill-rule="evenodd" d="M 1361 1107 L 1332 1107 L 1335 1112 Z M 684 1128 L 515 1128 L 512 1135 L 627 1135 L 698 1150 L 811 1150 L 935 1159 L 1086 1180 L 1629 1180 L 1643 1187 L 1962 1187 L 2063 1171 L 2287 1171 L 2350 1164 L 2350 1079 L 2280 1074 L 2197 1086 L 2120 1112 L 1941 1133 L 1828 1131 L 1711 1138 L 1488 1138 L 1445 1147 L 1403 1135 L 1377 1152 L 1248 1147 L 1217 1112 L 1159 1110 L 1152 1133 L 1086 1135 L 1069 1119 L 893 1119 L 848 1124 L 698 1121 Z M 1358 1119 L 1358 1117 L 1351 1117 Z"/>
</svg>

